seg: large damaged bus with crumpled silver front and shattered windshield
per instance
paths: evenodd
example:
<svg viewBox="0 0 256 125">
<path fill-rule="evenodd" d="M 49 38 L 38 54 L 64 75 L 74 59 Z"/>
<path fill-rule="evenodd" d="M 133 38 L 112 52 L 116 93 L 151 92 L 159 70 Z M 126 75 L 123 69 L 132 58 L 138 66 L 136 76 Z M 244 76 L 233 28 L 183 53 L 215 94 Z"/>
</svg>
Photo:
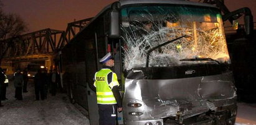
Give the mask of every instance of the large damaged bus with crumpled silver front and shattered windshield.
<svg viewBox="0 0 256 125">
<path fill-rule="evenodd" d="M 98 124 L 93 77 L 108 52 L 123 96 L 118 123 L 235 123 L 236 88 L 216 7 L 121 0 L 94 17 L 59 55 L 70 100 L 88 110 L 90 124 Z"/>
</svg>

